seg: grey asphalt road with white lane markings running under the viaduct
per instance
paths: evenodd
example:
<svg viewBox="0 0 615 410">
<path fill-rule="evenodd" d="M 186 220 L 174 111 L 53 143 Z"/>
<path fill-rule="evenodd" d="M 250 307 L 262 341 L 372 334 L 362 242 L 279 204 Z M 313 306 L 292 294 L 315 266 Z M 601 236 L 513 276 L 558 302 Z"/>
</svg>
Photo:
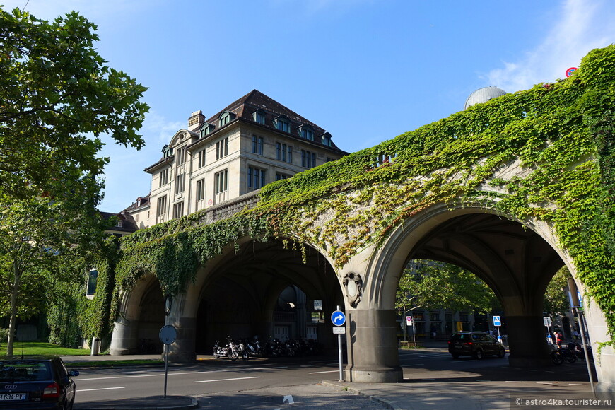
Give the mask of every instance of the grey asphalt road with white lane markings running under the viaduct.
<svg viewBox="0 0 615 410">
<path fill-rule="evenodd" d="M 404 382 L 438 389 L 484 390 L 505 387 L 530 391 L 537 387 L 589 389 L 585 363 L 564 363 L 544 369 L 511 368 L 508 355 L 478 361 L 453 359 L 445 349 L 399 351 Z M 163 394 L 164 368 L 84 369 L 75 377 L 76 409 L 96 403 Z M 291 401 L 299 408 L 381 409 L 362 396 L 328 385 L 338 380 L 335 358 L 276 358 L 228 361 L 204 360 L 194 365 L 174 365 L 168 373 L 167 394 L 197 397 L 203 409 L 278 409 Z"/>
</svg>

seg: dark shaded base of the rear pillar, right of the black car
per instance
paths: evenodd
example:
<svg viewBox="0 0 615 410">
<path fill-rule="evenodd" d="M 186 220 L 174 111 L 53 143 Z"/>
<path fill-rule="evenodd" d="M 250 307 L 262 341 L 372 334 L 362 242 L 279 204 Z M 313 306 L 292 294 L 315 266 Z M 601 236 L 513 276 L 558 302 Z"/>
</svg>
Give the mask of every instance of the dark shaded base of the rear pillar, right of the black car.
<svg viewBox="0 0 615 410">
<path fill-rule="evenodd" d="M 511 366 L 536 367 L 553 365 L 546 344 L 544 322 L 539 315 L 504 317 L 508 331 Z"/>
</svg>

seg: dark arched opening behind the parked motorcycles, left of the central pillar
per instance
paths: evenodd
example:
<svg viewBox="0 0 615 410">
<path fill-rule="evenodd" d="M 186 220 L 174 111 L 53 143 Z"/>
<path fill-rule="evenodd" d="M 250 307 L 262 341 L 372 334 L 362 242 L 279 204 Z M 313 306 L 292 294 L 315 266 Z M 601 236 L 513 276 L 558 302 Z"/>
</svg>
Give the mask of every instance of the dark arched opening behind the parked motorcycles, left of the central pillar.
<svg viewBox="0 0 615 410">
<path fill-rule="evenodd" d="M 292 245 L 291 245 L 292 247 Z M 197 354 L 216 340 L 310 339 L 333 345 L 324 312 L 343 303 L 331 264 L 312 247 L 288 249 L 282 240 L 249 241 L 201 272 L 196 311 Z"/>
</svg>

